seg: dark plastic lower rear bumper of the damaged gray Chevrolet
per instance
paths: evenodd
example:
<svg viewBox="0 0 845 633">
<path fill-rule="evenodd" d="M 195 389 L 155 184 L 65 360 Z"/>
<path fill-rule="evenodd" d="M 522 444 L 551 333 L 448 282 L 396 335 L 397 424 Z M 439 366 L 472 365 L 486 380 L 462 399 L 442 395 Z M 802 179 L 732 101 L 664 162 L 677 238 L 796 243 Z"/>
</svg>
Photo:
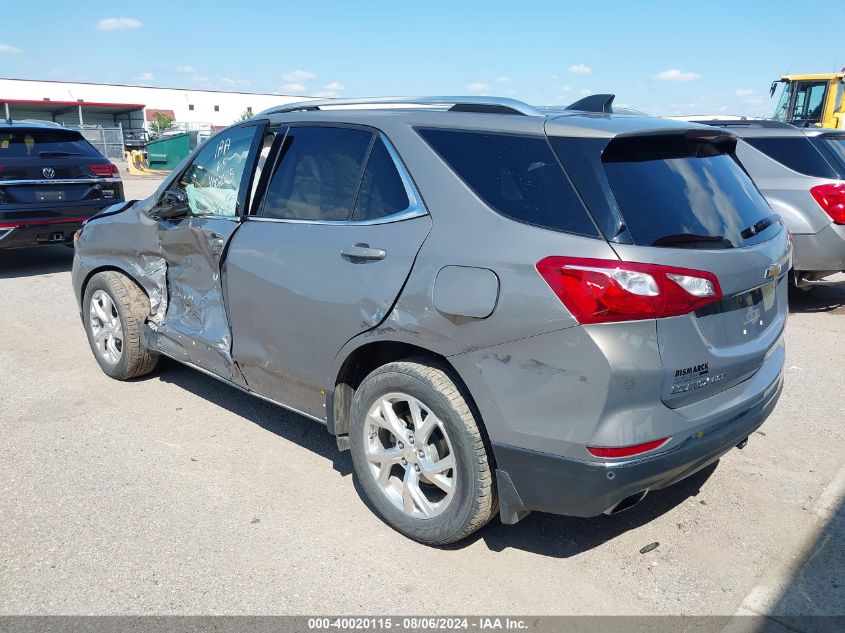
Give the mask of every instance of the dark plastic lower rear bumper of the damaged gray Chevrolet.
<svg viewBox="0 0 845 633">
<path fill-rule="evenodd" d="M 774 409 L 783 374 L 739 413 L 711 423 L 672 450 L 627 462 L 585 462 L 513 446 L 493 445 L 501 516 L 515 523 L 527 512 L 591 517 L 621 501 L 665 488 L 713 463 L 751 435 Z"/>
</svg>

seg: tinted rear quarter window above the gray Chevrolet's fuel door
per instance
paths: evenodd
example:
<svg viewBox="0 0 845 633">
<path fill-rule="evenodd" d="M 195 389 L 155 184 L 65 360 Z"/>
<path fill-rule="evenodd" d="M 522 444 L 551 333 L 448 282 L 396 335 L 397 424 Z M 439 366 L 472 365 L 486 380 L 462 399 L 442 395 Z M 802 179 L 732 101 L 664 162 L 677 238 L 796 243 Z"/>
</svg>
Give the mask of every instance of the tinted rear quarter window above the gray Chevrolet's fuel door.
<svg viewBox="0 0 845 633">
<path fill-rule="evenodd" d="M 545 138 L 434 129 L 419 133 L 502 215 L 555 231 L 598 235 Z"/>
</svg>

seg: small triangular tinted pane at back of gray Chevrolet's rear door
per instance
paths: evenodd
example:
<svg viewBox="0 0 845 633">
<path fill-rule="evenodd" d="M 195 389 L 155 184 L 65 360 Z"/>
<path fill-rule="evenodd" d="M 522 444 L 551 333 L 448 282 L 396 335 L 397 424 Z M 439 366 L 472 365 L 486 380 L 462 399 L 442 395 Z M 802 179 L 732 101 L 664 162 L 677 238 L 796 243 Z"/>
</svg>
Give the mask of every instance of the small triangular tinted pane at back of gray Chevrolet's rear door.
<svg viewBox="0 0 845 633">
<path fill-rule="evenodd" d="M 378 220 L 408 208 L 410 202 L 399 171 L 379 138 L 373 145 L 361 190 L 355 203 L 353 220 Z"/>
</svg>

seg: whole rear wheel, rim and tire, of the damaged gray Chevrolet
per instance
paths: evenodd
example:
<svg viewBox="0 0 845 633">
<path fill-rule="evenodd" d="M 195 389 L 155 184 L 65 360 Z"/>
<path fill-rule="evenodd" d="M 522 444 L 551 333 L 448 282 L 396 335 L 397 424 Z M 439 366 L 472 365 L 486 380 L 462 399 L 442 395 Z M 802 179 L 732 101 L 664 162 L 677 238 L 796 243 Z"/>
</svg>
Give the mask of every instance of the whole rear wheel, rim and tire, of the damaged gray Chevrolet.
<svg viewBox="0 0 845 633">
<path fill-rule="evenodd" d="M 445 545 L 495 512 L 480 424 L 449 373 L 428 359 L 389 363 L 355 393 L 349 443 L 376 513 L 416 541 Z"/>
</svg>

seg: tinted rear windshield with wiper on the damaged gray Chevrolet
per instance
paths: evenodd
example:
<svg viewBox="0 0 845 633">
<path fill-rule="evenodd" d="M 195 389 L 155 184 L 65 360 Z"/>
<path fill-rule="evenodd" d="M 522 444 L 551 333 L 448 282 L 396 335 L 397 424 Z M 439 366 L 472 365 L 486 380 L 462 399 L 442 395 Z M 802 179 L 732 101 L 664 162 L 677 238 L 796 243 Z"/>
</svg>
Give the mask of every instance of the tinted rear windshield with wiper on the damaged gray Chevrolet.
<svg viewBox="0 0 845 633">
<path fill-rule="evenodd" d="M 779 226 L 751 179 L 712 143 L 619 139 L 602 162 L 635 244 L 734 248 Z"/>
</svg>

